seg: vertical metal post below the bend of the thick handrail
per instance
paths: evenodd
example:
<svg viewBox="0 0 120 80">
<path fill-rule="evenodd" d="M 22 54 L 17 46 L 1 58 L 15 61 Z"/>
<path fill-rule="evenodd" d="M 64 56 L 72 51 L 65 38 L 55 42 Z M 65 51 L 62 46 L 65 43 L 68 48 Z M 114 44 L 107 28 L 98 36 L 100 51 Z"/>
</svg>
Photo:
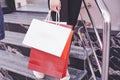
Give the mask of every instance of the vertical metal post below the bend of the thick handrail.
<svg viewBox="0 0 120 80">
<path fill-rule="evenodd" d="M 108 80 L 111 24 L 105 22 L 103 29 L 102 80 Z"/>
</svg>

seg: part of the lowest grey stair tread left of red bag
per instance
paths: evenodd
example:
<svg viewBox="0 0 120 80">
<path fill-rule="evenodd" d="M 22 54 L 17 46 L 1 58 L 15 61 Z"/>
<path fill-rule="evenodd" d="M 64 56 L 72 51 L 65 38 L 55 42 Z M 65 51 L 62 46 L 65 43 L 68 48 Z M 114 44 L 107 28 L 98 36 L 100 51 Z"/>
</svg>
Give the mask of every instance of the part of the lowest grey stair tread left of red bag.
<svg viewBox="0 0 120 80">
<path fill-rule="evenodd" d="M 32 71 L 27 69 L 28 57 L 0 50 L 0 67 L 18 74 L 35 78 Z M 28 74 L 29 73 L 29 74 Z"/>
</svg>

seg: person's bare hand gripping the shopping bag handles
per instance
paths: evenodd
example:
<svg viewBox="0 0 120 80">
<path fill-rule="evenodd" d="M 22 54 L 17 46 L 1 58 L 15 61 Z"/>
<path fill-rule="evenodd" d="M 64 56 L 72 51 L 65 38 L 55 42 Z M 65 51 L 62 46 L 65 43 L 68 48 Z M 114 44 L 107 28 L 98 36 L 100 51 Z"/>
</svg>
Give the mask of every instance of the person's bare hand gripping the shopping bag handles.
<svg viewBox="0 0 120 80">
<path fill-rule="evenodd" d="M 55 12 L 60 12 L 61 1 L 60 0 L 50 0 L 50 10 Z"/>
</svg>

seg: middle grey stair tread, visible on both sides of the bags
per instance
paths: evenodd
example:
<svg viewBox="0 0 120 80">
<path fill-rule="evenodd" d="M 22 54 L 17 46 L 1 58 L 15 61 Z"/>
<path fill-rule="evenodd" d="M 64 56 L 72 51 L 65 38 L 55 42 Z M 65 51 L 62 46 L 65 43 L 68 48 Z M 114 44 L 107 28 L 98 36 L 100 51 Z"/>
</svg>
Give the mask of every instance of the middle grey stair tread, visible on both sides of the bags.
<svg viewBox="0 0 120 80">
<path fill-rule="evenodd" d="M 22 44 L 25 34 L 12 31 L 5 31 L 5 34 L 5 39 L 1 40 L 1 42 L 28 47 Z M 87 52 L 88 55 L 90 55 L 92 53 L 92 50 L 90 48 L 87 48 Z M 84 49 L 82 47 L 74 45 L 71 46 L 70 56 L 82 60 L 85 60 L 87 58 L 87 55 L 84 54 Z"/>
</svg>

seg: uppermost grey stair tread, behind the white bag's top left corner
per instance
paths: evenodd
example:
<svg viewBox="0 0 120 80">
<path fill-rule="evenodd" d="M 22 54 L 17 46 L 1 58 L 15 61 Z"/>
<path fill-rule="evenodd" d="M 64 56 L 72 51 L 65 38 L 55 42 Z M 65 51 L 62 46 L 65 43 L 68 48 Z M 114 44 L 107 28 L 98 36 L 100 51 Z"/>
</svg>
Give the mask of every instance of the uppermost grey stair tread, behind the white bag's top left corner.
<svg viewBox="0 0 120 80">
<path fill-rule="evenodd" d="M 30 25 L 32 19 L 45 20 L 48 13 L 34 13 L 34 12 L 13 12 L 4 14 L 5 23 L 26 24 Z"/>
</svg>

